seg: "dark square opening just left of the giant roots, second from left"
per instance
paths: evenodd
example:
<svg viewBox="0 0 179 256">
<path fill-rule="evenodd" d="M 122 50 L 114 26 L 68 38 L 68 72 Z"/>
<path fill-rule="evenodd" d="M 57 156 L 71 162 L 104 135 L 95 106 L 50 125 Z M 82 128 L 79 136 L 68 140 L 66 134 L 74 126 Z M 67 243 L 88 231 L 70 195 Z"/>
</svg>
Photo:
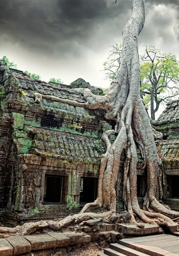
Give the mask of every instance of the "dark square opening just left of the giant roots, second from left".
<svg viewBox="0 0 179 256">
<path fill-rule="evenodd" d="M 90 203 L 97 198 L 97 178 L 81 177 L 80 203 Z"/>
</svg>

